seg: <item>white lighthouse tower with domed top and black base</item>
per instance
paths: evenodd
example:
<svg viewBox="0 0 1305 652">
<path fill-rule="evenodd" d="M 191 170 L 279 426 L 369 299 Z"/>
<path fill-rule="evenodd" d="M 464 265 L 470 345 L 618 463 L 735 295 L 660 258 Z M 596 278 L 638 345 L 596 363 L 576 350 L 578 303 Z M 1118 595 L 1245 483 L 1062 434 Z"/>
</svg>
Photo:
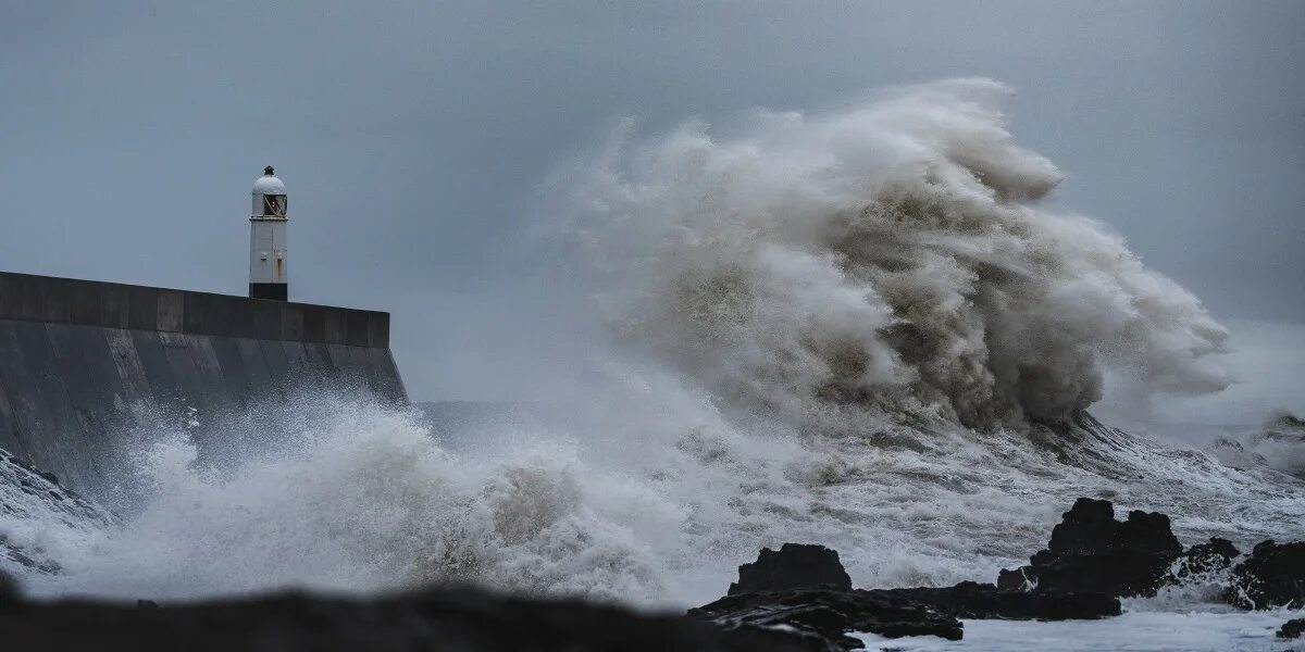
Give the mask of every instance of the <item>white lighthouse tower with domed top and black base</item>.
<svg viewBox="0 0 1305 652">
<path fill-rule="evenodd" d="M 290 297 L 286 270 L 286 184 L 271 166 L 253 183 L 249 214 L 249 296 L 286 301 Z"/>
</svg>

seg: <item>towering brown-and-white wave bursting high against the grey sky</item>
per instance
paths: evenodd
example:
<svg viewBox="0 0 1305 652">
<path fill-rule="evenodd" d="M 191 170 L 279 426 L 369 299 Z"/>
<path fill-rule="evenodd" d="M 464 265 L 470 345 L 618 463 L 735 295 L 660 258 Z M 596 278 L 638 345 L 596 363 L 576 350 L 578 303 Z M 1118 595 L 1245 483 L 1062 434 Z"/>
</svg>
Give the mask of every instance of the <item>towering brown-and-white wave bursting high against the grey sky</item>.
<svg viewBox="0 0 1305 652">
<path fill-rule="evenodd" d="M 791 420 L 830 407 L 993 429 L 1067 421 L 1101 369 L 1223 389 L 1227 331 L 1122 239 L 1040 201 L 987 80 L 900 89 L 741 133 L 619 133 L 568 171 L 602 305 L 639 347 Z M 827 426 L 827 424 L 823 424 Z"/>
</svg>

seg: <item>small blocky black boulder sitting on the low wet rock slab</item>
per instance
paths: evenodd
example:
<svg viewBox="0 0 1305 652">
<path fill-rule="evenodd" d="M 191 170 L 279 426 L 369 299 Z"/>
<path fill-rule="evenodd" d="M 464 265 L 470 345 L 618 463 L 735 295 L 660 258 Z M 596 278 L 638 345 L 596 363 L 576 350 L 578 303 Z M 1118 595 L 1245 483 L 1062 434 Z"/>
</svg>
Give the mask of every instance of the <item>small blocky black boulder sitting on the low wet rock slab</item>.
<svg viewBox="0 0 1305 652">
<path fill-rule="evenodd" d="M 762 548 L 757 561 L 739 566 L 739 582 L 729 584 L 727 595 L 797 588 L 851 591 L 852 578 L 838 561 L 838 552 L 823 545 L 784 544 L 778 552 Z"/>
</svg>

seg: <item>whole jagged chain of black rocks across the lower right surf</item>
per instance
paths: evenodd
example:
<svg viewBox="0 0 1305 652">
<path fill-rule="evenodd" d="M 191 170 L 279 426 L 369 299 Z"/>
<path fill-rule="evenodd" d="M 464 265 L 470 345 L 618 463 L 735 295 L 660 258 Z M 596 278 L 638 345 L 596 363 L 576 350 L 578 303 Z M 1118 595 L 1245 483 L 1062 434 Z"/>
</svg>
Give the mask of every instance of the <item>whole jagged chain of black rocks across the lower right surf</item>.
<svg viewBox="0 0 1305 652">
<path fill-rule="evenodd" d="M 1118 597 L 1154 596 L 1167 584 L 1221 576 L 1240 557 L 1227 539 L 1184 550 L 1169 516 L 1079 498 L 1030 565 L 1001 570 L 997 584 L 852 589 L 838 553 L 818 545 L 762 549 L 739 567 L 726 597 L 689 610 L 728 631 L 788 632 L 829 649 L 853 649 L 851 632 L 960 639 L 959 618 L 1090 619 L 1118 615 Z M 1305 542 L 1266 541 L 1232 569 L 1227 600 L 1244 608 L 1305 606 Z"/>
</svg>

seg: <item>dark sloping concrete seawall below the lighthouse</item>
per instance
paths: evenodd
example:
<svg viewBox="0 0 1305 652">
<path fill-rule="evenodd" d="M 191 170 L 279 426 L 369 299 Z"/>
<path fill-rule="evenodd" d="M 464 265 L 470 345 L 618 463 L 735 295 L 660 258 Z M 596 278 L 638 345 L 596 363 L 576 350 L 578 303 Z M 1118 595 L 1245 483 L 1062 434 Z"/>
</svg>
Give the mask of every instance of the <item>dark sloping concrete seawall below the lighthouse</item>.
<svg viewBox="0 0 1305 652">
<path fill-rule="evenodd" d="M 407 403 L 388 313 L 0 273 L 0 449 L 78 492 L 114 484 L 142 415 L 204 439 L 328 386 Z"/>
</svg>

